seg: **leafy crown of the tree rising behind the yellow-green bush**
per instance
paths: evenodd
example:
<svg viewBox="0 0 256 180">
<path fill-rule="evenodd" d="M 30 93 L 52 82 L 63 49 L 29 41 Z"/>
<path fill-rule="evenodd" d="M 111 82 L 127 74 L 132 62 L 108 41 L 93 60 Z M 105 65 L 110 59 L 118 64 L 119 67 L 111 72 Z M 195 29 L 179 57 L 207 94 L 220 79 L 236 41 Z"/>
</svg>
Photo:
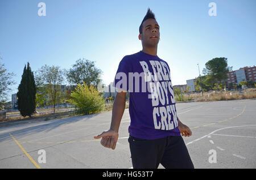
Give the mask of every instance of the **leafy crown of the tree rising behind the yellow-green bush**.
<svg viewBox="0 0 256 180">
<path fill-rule="evenodd" d="M 88 59 L 78 59 L 75 65 L 72 66 L 67 72 L 67 80 L 70 84 L 82 84 L 83 82 L 90 87 L 93 85 L 97 87 L 101 82 L 101 70 L 96 68 L 94 61 Z"/>
</svg>

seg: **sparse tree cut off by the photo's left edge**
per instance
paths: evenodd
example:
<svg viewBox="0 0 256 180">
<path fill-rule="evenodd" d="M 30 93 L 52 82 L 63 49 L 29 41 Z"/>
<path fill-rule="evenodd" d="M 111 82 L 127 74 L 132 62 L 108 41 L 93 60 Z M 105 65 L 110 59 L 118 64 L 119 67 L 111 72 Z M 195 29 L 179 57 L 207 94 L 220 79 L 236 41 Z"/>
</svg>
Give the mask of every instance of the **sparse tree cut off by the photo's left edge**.
<svg viewBox="0 0 256 180">
<path fill-rule="evenodd" d="M 2 61 L 1 56 L 0 61 Z M 7 101 L 7 92 L 11 91 L 9 86 L 16 84 L 16 82 L 12 80 L 13 76 L 15 76 L 15 74 L 13 72 L 7 72 L 5 64 L 0 62 L 0 110 Z"/>
</svg>

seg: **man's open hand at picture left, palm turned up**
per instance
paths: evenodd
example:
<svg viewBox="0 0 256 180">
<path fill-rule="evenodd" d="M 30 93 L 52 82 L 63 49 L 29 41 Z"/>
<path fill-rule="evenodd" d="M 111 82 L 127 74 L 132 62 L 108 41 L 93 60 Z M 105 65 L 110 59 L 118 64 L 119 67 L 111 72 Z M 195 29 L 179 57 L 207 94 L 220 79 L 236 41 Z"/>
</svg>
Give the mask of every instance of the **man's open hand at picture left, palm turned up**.
<svg viewBox="0 0 256 180">
<path fill-rule="evenodd" d="M 94 136 L 94 139 L 101 139 L 101 145 L 105 148 L 115 149 L 115 145 L 117 145 L 118 140 L 118 132 L 113 130 L 108 130 L 102 132 L 100 135 Z"/>
</svg>

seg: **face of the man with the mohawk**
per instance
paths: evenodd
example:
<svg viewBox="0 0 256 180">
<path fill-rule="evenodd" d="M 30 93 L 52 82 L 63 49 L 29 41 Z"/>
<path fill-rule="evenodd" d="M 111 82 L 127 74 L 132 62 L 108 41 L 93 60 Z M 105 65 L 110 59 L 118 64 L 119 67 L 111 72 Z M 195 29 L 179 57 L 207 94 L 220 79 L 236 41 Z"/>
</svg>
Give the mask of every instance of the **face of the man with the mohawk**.
<svg viewBox="0 0 256 180">
<path fill-rule="evenodd" d="M 155 19 L 147 19 L 142 23 L 142 34 L 139 34 L 139 40 L 142 46 L 157 46 L 160 38 L 159 25 Z"/>
</svg>

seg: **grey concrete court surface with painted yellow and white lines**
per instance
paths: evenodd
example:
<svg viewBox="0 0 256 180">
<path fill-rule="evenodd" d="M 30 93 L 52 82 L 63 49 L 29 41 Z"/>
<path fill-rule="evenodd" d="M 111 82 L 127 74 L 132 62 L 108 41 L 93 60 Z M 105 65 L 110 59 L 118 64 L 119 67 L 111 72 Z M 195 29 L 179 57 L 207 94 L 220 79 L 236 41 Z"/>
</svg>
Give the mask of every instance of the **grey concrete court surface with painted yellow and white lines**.
<svg viewBox="0 0 256 180">
<path fill-rule="evenodd" d="M 256 100 L 188 102 L 176 108 L 192 130 L 183 139 L 195 168 L 256 168 Z M 93 139 L 109 129 L 111 117 L 105 112 L 1 127 L 0 168 L 131 168 L 128 109 L 115 150 Z"/>
</svg>

